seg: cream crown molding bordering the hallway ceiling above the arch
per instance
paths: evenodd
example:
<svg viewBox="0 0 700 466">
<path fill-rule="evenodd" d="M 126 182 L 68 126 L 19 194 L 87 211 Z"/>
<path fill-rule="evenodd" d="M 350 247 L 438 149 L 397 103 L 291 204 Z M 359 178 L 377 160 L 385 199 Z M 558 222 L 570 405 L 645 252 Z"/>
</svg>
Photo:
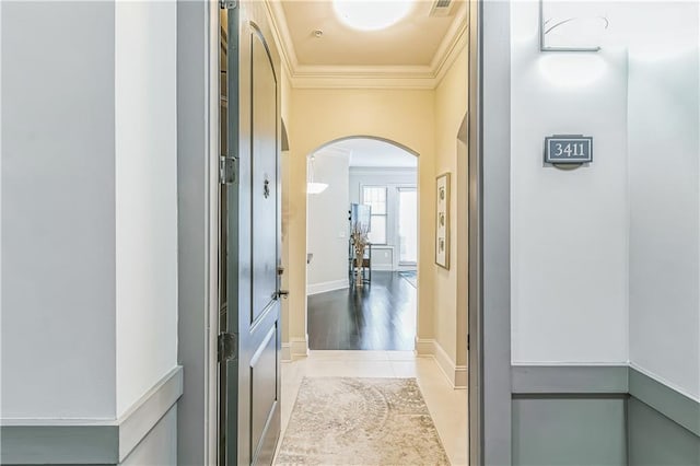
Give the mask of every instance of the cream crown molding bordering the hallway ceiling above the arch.
<svg viewBox="0 0 700 466">
<path fill-rule="evenodd" d="M 462 3 L 430 65 L 301 65 L 280 1 L 265 0 L 275 39 L 296 89 L 435 89 L 467 45 L 467 8 Z"/>
</svg>

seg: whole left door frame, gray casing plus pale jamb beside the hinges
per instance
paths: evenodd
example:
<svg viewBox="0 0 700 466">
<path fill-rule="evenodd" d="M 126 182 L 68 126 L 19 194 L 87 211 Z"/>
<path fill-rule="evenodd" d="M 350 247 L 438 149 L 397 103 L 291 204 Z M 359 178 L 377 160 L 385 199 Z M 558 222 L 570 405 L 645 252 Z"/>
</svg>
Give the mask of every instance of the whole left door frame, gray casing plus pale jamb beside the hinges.
<svg viewBox="0 0 700 466">
<path fill-rule="evenodd" d="M 219 4 L 177 2 L 179 464 L 218 457 Z"/>
</svg>

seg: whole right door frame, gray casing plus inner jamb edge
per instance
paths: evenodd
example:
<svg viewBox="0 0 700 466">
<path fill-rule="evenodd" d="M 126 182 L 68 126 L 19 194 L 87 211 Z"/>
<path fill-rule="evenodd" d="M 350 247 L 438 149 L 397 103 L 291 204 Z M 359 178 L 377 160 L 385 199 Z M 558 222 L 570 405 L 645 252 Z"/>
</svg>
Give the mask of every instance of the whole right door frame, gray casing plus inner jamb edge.
<svg viewBox="0 0 700 466">
<path fill-rule="evenodd" d="M 475 466 L 512 464 L 510 14 L 508 1 L 469 0 L 468 398 Z"/>
</svg>

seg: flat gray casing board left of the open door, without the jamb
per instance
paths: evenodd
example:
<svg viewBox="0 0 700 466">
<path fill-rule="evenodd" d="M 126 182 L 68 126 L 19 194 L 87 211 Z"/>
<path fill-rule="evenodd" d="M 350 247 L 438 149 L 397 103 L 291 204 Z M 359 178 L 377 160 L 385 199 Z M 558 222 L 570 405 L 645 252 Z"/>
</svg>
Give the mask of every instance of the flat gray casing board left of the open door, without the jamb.
<svg viewBox="0 0 700 466">
<path fill-rule="evenodd" d="M 178 363 L 185 396 L 177 404 L 177 457 L 207 464 L 209 2 L 177 1 Z M 214 328 L 212 331 L 217 331 Z"/>
</svg>

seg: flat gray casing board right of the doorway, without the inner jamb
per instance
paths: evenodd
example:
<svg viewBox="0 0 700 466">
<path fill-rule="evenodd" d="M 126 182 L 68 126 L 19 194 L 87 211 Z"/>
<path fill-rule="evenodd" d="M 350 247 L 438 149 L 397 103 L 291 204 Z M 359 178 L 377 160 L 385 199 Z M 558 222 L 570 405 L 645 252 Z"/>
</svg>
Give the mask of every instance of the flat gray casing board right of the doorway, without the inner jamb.
<svg viewBox="0 0 700 466">
<path fill-rule="evenodd" d="M 482 170 L 482 455 L 511 464 L 511 7 L 479 2 Z M 488 50 L 488 53 L 482 53 Z"/>
</svg>

